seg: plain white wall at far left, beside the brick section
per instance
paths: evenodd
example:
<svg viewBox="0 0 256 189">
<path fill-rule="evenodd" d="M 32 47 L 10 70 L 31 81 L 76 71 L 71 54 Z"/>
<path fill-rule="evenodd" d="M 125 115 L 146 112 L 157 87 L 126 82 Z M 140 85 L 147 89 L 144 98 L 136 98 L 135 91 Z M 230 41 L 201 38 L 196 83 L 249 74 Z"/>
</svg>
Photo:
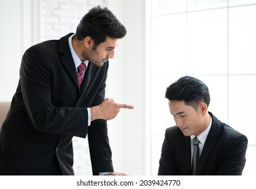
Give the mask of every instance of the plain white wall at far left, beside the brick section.
<svg viewBox="0 0 256 189">
<path fill-rule="evenodd" d="M 10 101 L 24 51 L 39 42 L 39 0 L 0 0 L 0 101 Z"/>
</svg>

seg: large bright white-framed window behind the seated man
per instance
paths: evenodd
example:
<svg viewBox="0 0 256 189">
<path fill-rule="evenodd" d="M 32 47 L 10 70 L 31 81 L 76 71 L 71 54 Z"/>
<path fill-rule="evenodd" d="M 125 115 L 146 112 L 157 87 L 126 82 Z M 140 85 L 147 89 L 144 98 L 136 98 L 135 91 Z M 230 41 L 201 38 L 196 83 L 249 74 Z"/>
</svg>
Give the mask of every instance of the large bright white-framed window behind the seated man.
<svg viewBox="0 0 256 189">
<path fill-rule="evenodd" d="M 151 174 L 158 171 L 165 129 L 175 125 L 165 89 L 190 75 L 209 86 L 209 111 L 249 139 L 243 175 L 255 175 L 256 1 L 151 2 Z"/>
</svg>

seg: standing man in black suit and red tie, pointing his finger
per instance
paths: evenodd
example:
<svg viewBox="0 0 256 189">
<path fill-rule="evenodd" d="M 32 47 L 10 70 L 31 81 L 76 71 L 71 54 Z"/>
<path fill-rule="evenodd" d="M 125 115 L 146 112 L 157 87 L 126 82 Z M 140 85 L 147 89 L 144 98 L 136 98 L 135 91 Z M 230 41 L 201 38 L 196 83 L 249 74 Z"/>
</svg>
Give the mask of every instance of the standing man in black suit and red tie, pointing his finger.
<svg viewBox="0 0 256 189">
<path fill-rule="evenodd" d="M 75 34 L 24 53 L 0 132 L 0 175 L 74 175 L 73 136 L 88 136 L 93 175 L 123 175 L 112 166 L 106 120 L 133 107 L 104 96 L 108 59 L 126 32 L 109 9 L 98 6 Z"/>
</svg>

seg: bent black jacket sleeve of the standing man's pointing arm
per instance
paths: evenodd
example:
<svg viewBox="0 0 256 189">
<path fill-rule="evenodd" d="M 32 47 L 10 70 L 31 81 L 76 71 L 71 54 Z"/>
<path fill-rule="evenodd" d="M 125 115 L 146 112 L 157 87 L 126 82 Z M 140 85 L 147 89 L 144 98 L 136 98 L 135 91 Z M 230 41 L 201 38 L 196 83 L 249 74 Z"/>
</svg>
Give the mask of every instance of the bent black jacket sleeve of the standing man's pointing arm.
<svg viewBox="0 0 256 189">
<path fill-rule="evenodd" d="M 49 69 L 47 66 L 49 60 L 45 59 L 42 51 L 40 47 L 31 47 L 22 57 L 20 84 L 28 117 L 39 132 L 85 138 L 88 122 L 87 109 L 56 107 L 52 103 L 51 76 L 58 71 Z"/>
</svg>

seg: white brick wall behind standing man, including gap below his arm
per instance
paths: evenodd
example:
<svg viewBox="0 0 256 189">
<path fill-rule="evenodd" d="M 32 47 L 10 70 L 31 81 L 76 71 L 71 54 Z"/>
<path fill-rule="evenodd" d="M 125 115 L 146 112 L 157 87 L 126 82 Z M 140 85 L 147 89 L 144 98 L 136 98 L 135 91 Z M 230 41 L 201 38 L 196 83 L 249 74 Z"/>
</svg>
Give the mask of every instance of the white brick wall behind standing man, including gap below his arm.
<svg viewBox="0 0 256 189">
<path fill-rule="evenodd" d="M 104 0 L 41 0 L 41 41 L 58 39 L 75 32 L 81 18 L 91 7 L 104 7 Z M 91 175 L 87 139 L 73 138 L 74 173 Z"/>
</svg>

